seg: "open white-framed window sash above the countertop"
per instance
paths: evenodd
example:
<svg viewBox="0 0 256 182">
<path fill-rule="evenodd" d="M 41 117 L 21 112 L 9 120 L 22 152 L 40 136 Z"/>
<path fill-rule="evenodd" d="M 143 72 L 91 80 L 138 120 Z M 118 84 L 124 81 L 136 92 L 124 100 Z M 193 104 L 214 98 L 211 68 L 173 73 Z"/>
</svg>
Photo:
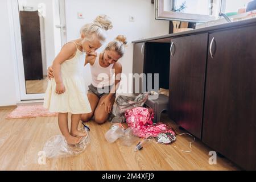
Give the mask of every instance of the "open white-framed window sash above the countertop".
<svg viewBox="0 0 256 182">
<path fill-rule="evenodd" d="M 155 0 L 155 19 L 207 22 L 219 10 L 220 0 Z"/>
</svg>

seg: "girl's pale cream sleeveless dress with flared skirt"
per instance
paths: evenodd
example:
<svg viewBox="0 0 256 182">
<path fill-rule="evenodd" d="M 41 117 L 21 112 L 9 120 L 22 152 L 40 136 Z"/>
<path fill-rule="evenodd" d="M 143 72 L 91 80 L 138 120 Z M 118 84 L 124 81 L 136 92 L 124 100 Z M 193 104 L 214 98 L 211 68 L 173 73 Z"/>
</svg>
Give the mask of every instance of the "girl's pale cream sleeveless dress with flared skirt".
<svg viewBox="0 0 256 182">
<path fill-rule="evenodd" d="M 75 42 L 72 42 L 76 44 Z M 83 114 L 92 112 L 86 96 L 85 82 L 82 75 L 85 53 L 78 48 L 76 55 L 60 65 L 61 78 L 65 86 L 63 94 L 56 93 L 56 82 L 52 78 L 48 81 L 44 107 L 50 112 Z"/>
</svg>

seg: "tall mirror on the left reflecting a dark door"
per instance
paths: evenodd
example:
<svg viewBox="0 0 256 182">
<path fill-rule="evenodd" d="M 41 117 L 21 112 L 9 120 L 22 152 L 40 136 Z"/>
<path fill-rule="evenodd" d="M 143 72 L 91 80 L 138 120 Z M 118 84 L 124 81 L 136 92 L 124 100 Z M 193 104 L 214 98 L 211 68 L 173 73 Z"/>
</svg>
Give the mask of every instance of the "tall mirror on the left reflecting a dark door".
<svg viewBox="0 0 256 182">
<path fill-rule="evenodd" d="M 26 94 L 46 92 L 47 68 L 61 48 L 57 2 L 18 0 Z"/>
</svg>

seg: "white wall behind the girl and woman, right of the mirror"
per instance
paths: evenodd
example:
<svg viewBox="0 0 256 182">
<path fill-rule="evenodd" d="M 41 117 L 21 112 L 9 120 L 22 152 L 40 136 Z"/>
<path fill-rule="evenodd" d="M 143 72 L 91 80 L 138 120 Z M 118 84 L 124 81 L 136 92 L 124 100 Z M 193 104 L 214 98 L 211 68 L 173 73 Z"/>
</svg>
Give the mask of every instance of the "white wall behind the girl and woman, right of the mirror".
<svg viewBox="0 0 256 182">
<path fill-rule="evenodd" d="M 67 18 L 67 40 L 79 38 L 80 27 L 92 22 L 97 15 L 110 16 L 113 29 L 108 31 L 106 43 L 117 35 L 126 35 L 129 42 L 126 53 L 120 60 L 123 73 L 132 73 L 133 68 L 133 44 L 132 41 L 150 38 L 153 36 L 168 34 L 169 23 L 165 20 L 155 20 L 154 5 L 150 0 L 65 0 Z M 84 19 L 78 19 L 77 13 L 83 13 Z M 129 16 L 134 16 L 135 21 L 129 22 Z M 101 51 L 104 46 L 101 47 Z M 85 68 L 86 86 L 90 84 L 91 76 L 89 65 Z"/>
</svg>

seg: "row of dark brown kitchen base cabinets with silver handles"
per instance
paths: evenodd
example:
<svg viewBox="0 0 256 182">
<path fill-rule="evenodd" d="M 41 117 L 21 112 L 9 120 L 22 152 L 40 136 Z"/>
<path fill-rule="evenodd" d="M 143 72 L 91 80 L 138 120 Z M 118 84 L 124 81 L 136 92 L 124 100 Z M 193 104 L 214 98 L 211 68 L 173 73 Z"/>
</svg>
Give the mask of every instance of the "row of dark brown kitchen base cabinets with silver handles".
<svg viewBox="0 0 256 182">
<path fill-rule="evenodd" d="M 251 19 L 134 44 L 134 73 L 159 72 L 166 80 L 158 64 L 170 58 L 169 117 L 247 170 L 256 170 L 255 32 Z"/>
</svg>

